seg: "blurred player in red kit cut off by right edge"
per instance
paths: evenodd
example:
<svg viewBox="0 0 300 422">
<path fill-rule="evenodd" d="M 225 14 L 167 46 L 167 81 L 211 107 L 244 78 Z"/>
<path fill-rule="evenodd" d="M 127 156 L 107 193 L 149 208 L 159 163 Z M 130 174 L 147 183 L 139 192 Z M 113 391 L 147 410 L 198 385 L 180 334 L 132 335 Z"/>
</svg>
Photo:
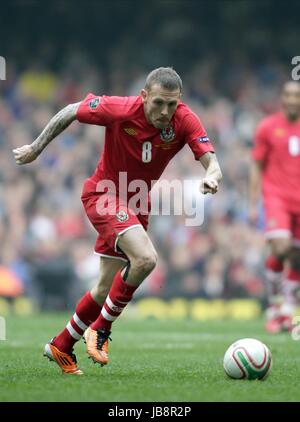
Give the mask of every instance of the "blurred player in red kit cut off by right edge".
<svg viewBox="0 0 300 422">
<path fill-rule="evenodd" d="M 291 329 L 300 288 L 300 84 L 286 82 L 282 111 L 258 125 L 250 175 L 250 219 L 257 218 L 260 185 L 270 255 L 266 260 L 266 329 Z"/>
</svg>

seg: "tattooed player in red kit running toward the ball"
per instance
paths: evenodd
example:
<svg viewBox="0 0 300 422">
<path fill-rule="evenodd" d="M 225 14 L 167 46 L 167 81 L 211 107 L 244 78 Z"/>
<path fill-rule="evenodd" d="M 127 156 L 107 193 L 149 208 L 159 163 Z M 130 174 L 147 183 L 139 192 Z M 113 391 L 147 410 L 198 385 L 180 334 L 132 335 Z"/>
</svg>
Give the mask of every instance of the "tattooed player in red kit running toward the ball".
<svg viewBox="0 0 300 422">
<path fill-rule="evenodd" d="M 31 144 L 14 150 L 18 164 L 30 163 L 70 123 L 106 127 L 104 151 L 92 177 L 86 180 L 82 202 L 98 232 L 95 252 L 100 256 L 100 279 L 78 302 L 67 326 L 45 346 L 45 355 L 65 373 L 82 374 L 73 346 L 84 334 L 87 353 L 94 362 L 108 363 L 112 322 L 130 302 L 134 291 L 154 269 L 157 255 L 146 231 L 152 181 L 185 144 L 206 169 L 203 193 L 216 193 L 221 180 L 213 146 L 199 118 L 180 101 L 182 82 L 172 68 L 153 70 L 136 97 L 89 94 L 54 116 Z M 126 173 L 126 195 L 119 175 Z M 142 180 L 147 186 L 143 211 L 129 206 L 128 185 Z M 102 182 L 113 186 L 103 189 Z M 126 198 L 127 196 L 127 198 Z M 111 198 L 113 202 L 110 203 Z M 114 212 L 102 212 L 105 204 Z M 109 208 L 111 207 L 111 208 Z"/>
</svg>

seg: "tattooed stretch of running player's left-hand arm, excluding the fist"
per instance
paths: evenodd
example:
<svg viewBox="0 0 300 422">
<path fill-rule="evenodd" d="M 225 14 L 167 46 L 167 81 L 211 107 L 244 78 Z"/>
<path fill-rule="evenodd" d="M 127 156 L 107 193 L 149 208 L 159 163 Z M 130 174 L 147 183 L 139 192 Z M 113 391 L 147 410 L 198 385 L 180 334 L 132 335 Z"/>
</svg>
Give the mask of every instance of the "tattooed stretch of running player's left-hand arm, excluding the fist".
<svg viewBox="0 0 300 422">
<path fill-rule="evenodd" d="M 80 103 L 69 104 L 52 117 L 43 132 L 32 143 L 38 153 L 42 152 L 57 135 L 63 132 L 76 119 L 79 105 Z"/>
</svg>

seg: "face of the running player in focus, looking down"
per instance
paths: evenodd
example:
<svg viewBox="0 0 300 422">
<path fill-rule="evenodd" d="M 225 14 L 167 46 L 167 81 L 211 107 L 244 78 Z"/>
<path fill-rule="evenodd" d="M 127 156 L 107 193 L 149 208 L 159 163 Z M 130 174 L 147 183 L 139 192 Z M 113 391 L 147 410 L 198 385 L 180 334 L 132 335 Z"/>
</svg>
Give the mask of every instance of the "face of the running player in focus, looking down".
<svg viewBox="0 0 300 422">
<path fill-rule="evenodd" d="M 149 91 L 142 89 L 141 96 L 148 122 L 157 129 L 168 127 L 181 96 L 179 89 L 168 91 L 160 85 L 153 85 Z"/>
</svg>

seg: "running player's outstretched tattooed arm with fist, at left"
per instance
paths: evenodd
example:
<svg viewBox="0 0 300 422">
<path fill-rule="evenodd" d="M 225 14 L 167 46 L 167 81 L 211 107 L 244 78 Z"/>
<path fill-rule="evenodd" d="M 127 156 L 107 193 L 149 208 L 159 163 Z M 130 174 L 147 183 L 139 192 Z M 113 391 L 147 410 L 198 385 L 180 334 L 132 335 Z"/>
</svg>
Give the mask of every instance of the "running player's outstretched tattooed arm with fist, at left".
<svg viewBox="0 0 300 422">
<path fill-rule="evenodd" d="M 14 149 L 16 163 L 28 164 L 34 161 L 46 146 L 76 119 L 79 105 L 80 102 L 69 104 L 63 108 L 52 117 L 43 132 L 32 144 Z"/>
</svg>

